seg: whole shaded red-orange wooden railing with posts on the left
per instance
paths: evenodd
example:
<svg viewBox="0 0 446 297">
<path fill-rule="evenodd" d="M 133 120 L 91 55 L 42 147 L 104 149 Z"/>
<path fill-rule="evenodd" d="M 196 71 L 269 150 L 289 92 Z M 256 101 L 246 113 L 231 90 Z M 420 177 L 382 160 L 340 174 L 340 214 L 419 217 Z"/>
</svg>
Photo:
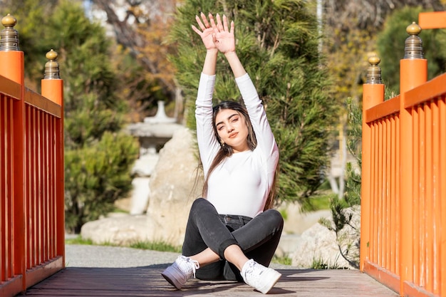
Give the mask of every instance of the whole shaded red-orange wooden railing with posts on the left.
<svg viewBox="0 0 446 297">
<path fill-rule="evenodd" d="M 24 86 L 12 16 L 0 33 L 0 296 L 63 269 L 63 81 L 46 57 L 42 95 Z"/>
</svg>

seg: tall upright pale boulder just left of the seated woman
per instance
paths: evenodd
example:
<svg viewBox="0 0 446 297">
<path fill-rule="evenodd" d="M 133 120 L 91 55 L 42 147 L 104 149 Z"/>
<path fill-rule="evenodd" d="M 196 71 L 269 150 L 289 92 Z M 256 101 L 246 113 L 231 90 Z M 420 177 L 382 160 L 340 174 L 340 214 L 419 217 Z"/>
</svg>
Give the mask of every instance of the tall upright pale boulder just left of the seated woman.
<svg viewBox="0 0 446 297">
<path fill-rule="evenodd" d="M 160 151 L 150 178 L 147 217 L 153 240 L 182 244 L 190 207 L 203 187 L 198 165 L 195 137 L 190 130 L 178 130 Z"/>
</svg>

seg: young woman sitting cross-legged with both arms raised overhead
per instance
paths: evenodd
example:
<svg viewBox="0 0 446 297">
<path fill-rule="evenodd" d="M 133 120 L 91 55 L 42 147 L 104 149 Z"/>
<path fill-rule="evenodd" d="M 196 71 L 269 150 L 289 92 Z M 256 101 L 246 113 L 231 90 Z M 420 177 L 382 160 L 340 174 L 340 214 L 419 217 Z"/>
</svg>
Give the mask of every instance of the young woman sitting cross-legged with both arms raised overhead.
<svg viewBox="0 0 446 297">
<path fill-rule="evenodd" d="M 203 197 L 190 209 L 182 256 L 165 271 L 176 288 L 192 276 L 244 281 L 267 293 L 281 274 L 268 268 L 284 220 L 270 209 L 279 150 L 259 95 L 235 51 L 234 22 L 196 16 L 192 29 L 207 49 L 195 116 L 204 170 Z M 212 107 L 218 53 L 223 53 L 244 100 Z"/>
</svg>

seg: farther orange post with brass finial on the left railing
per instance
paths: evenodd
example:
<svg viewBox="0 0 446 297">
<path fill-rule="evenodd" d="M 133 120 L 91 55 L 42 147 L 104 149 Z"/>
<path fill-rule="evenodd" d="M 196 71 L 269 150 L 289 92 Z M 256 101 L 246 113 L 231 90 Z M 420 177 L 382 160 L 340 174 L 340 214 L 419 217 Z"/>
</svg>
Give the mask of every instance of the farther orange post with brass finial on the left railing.
<svg viewBox="0 0 446 297">
<path fill-rule="evenodd" d="M 65 267 L 65 177 L 63 160 L 63 80 L 59 72 L 59 64 L 56 62 L 58 54 L 56 51 L 46 53 L 48 62 L 45 64 L 45 76 L 41 80 L 42 95 L 54 103 L 61 105 L 61 120 L 56 124 L 56 133 L 58 142 L 56 142 L 56 242 L 58 255 L 63 257 L 63 266 Z"/>
</svg>

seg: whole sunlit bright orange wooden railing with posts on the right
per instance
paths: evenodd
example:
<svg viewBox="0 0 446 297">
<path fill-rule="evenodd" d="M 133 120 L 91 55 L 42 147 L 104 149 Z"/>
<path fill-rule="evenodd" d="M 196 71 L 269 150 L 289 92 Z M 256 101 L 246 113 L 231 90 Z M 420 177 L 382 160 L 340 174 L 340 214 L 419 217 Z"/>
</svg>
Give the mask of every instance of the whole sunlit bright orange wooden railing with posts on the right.
<svg viewBox="0 0 446 297">
<path fill-rule="evenodd" d="M 400 95 L 384 101 L 377 57 L 363 88 L 360 268 L 400 296 L 446 296 L 446 73 L 427 81 L 418 37 L 445 20 L 408 26 Z"/>
</svg>

